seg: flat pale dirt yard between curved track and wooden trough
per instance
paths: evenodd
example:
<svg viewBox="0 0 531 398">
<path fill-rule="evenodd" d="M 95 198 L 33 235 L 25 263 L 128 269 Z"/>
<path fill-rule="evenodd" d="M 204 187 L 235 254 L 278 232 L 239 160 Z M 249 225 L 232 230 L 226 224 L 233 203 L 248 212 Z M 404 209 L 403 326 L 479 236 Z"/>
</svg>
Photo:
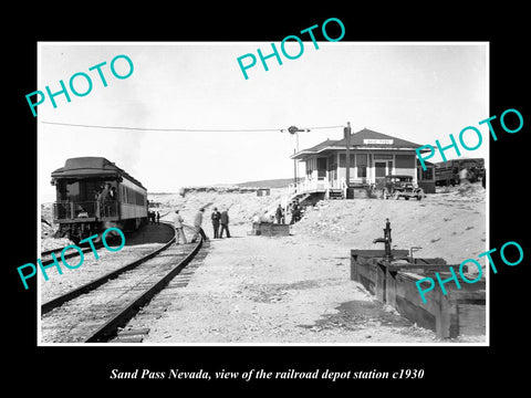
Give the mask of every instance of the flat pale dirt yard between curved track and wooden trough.
<svg viewBox="0 0 531 398">
<path fill-rule="evenodd" d="M 145 343 L 377 343 L 435 341 L 348 280 L 340 244 L 233 228 L 155 322 Z"/>
</svg>

